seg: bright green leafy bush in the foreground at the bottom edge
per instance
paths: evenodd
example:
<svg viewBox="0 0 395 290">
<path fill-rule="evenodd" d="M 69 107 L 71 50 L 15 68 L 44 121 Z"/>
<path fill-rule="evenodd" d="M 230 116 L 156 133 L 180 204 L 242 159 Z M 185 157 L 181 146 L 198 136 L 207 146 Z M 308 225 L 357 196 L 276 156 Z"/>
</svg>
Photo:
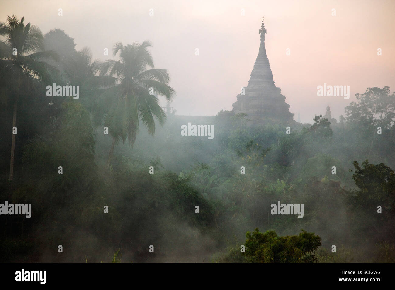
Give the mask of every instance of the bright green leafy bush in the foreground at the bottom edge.
<svg viewBox="0 0 395 290">
<path fill-rule="evenodd" d="M 252 263 L 313 263 L 321 246 L 320 236 L 302 230 L 298 236 L 277 236 L 274 230 L 265 233 L 258 228 L 246 233 L 246 256 Z"/>
</svg>

